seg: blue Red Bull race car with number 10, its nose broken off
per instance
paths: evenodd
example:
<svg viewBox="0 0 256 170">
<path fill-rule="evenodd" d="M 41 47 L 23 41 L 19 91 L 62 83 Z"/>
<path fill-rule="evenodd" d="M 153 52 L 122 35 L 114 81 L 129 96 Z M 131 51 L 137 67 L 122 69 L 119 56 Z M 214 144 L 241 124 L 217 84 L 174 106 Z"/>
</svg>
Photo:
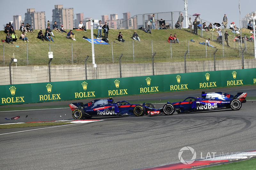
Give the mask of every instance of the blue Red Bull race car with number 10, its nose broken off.
<svg viewBox="0 0 256 170">
<path fill-rule="evenodd" d="M 154 105 L 150 103 L 130 104 L 127 101 L 114 103 L 112 98 L 93 100 L 89 103 L 72 103 L 69 105 L 74 119 L 91 118 L 92 116 L 114 116 L 114 115 L 136 115 L 143 116 L 149 111 L 155 111 Z"/>
</svg>

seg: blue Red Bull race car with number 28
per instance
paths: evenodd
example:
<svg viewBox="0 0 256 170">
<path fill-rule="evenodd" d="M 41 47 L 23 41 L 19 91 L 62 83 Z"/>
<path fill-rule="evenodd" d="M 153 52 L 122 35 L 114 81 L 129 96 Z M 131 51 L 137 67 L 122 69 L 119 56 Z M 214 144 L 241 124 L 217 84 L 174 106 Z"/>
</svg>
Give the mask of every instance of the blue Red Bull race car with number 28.
<svg viewBox="0 0 256 170">
<path fill-rule="evenodd" d="M 167 102 L 161 109 L 165 115 L 172 115 L 175 111 L 179 114 L 223 108 L 239 110 L 242 107 L 242 103 L 246 102 L 245 98 L 247 93 L 239 92 L 233 96 L 224 92 L 202 92 L 201 95 L 202 98 L 188 97 L 180 102 Z"/>
</svg>

